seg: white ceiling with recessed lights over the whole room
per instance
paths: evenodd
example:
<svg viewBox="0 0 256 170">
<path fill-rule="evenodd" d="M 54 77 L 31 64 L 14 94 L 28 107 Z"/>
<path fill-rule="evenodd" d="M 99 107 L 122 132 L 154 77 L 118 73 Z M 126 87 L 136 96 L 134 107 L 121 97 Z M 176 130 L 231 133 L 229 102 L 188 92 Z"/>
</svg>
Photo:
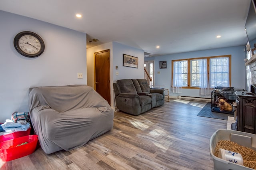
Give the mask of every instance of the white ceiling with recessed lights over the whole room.
<svg viewBox="0 0 256 170">
<path fill-rule="evenodd" d="M 0 10 L 99 40 L 87 48 L 114 41 L 152 56 L 245 45 L 249 6 L 250 0 L 0 0 Z"/>
</svg>

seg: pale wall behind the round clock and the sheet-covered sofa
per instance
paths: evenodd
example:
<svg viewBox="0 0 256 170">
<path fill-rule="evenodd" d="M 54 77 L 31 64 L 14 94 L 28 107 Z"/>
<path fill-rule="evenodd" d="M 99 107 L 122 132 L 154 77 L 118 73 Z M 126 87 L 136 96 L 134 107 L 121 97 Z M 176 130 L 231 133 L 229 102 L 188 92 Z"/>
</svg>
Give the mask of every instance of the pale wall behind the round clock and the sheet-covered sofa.
<svg viewBox="0 0 256 170">
<path fill-rule="evenodd" d="M 87 84 L 85 33 L 4 11 L 0 23 L 0 122 L 14 111 L 28 112 L 30 87 Z M 28 58 L 16 51 L 13 40 L 22 31 L 43 38 L 42 55 Z"/>
</svg>

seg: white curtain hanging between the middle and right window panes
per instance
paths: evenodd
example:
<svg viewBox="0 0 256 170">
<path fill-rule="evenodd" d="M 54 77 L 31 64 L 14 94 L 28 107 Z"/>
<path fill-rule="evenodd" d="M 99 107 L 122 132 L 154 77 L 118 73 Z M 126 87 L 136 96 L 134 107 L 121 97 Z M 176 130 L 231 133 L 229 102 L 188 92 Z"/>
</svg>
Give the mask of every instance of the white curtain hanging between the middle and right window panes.
<svg viewBox="0 0 256 170">
<path fill-rule="evenodd" d="M 208 83 L 207 59 L 199 59 L 198 66 L 199 66 L 199 75 L 200 75 L 199 94 L 210 95 L 211 90 Z"/>
</svg>

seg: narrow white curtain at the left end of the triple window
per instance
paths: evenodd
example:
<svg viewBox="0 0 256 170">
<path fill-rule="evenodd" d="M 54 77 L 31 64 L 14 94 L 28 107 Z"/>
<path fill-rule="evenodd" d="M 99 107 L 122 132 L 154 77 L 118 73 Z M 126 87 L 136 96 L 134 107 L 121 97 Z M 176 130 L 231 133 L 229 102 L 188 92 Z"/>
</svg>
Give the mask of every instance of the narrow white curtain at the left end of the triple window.
<svg viewBox="0 0 256 170">
<path fill-rule="evenodd" d="M 182 93 L 182 62 L 175 61 L 172 78 L 172 93 Z"/>
</svg>

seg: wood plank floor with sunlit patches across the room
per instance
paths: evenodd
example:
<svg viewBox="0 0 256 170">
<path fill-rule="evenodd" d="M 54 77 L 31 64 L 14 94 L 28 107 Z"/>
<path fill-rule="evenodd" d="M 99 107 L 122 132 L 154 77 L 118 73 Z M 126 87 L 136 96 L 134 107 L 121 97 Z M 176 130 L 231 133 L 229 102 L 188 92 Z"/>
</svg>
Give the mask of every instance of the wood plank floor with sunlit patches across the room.
<svg viewBox="0 0 256 170">
<path fill-rule="evenodd" d="M 198 117 L 206 102 L 171 99 L 138 116 L 115 112 L 114 127 L 86 145 L 9 162 L 1 170 L 213 170 L 209 140 L 227 121 Z M 75 140 L 75 139 L 74 139 Z"/>
</svg>

